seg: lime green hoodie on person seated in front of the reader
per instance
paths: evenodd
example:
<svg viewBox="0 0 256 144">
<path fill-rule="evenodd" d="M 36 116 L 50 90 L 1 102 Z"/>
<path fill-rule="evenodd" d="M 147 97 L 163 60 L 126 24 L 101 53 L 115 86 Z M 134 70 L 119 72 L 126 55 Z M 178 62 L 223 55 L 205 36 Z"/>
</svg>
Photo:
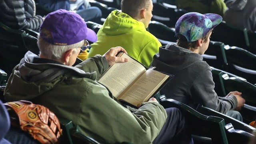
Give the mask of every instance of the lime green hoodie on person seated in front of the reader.
<svg viewBox="0 0 256 144">
<path fill-rule="evenodd" d="M 129 56 L 146 67 L 150 65 L 161 46 L 158 39 L 146 31 L 142 22 L 118 10 L 109 14 L 97 37 L 98 41 L 92 44 L 88 58 L 96 54 L 103 55 L 112 47 L 122 46 Z"/>
</svg>

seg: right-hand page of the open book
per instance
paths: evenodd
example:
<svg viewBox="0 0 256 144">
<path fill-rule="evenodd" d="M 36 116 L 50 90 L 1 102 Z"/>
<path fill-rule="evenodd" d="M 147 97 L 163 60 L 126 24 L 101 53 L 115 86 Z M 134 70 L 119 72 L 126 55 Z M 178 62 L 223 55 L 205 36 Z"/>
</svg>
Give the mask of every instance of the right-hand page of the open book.
<svg viewBox="0 0 256 144">
<path fill-rule="evenodd" d="M 138 80 L 120 97 L 120 99 L 137 106 L 148 99 L 158 90 L 169 76 L 156 70 L 147 70 Z"/>
</svg>

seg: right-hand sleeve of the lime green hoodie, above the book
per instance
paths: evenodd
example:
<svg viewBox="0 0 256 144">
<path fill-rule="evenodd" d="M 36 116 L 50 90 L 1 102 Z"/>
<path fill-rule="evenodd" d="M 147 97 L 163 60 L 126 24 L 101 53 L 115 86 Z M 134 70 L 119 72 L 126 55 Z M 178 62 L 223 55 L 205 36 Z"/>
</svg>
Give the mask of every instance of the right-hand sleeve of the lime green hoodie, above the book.
<svg viewBox="0 0 256 144">
<path fill-rule="evenodd" d="M 146 46 L 144 46 L 143 50 L 140 52 L 138 56 L 138 61 L 148 68 L 153 60 L 153 56 L 159 52 L 160 46 L 162 45 L 157 39 L 150 41 L 148 44 L 146 44 Z"/>
</svg>

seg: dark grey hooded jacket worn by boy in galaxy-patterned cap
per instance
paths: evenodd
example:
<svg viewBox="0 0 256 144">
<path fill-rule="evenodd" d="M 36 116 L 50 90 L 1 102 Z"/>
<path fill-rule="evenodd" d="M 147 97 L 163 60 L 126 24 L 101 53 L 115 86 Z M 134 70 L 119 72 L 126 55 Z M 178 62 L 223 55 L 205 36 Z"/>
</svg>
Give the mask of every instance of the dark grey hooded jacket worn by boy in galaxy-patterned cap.
<svg viewBox="0 0 256 144">
<path fill-rule="evenodd" d="M 202 60 L 200 54 L 174 44 L 160 47 L 151 65 L 158 71 L 174 75 L 160 93 L 192 108 L 201 104 L 224 114 L 228 110 L 234 110 L 237 107 L 236 97 L 217 96 L 211 68 Z"/>
</svg>

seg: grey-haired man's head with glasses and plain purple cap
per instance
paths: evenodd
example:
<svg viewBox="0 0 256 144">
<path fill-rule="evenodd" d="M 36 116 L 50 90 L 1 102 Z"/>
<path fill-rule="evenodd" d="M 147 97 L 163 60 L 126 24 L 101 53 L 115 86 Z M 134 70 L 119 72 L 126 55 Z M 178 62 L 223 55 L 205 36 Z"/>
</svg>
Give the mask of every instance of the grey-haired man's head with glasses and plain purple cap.
<svg viewBox="0 0 256 144">
<path fill-rule="evenodd" d="M 96 42 L 97 36 L 87 28 L 81 16 L 67 10 L 56 10 L 48 14 L 40 26 L 39 57 L 72 66 L 80 50 L 85 50 L 88 45 L 87 40 Z"/>
</svg>

